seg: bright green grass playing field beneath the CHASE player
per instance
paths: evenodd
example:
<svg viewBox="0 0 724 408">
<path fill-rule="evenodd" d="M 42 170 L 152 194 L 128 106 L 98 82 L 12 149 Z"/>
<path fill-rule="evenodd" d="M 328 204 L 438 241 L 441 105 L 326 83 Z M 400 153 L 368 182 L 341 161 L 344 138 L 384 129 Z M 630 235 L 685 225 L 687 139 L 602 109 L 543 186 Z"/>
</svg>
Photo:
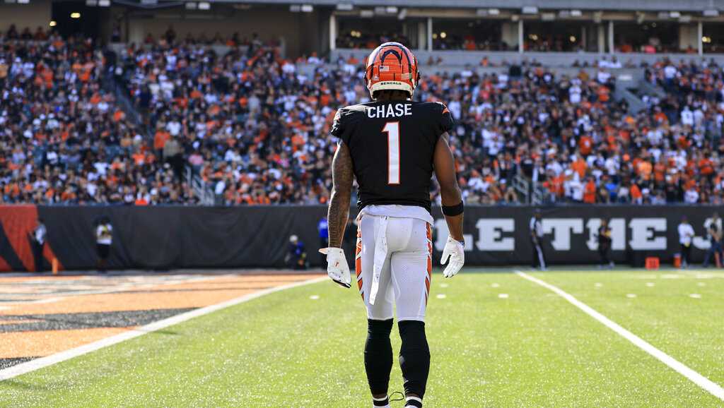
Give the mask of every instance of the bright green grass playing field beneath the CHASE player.
<svg viewBox="0 0 724 408">
<path fill-rule="evenodd" d="M 724 405 L 550 290 L 475 272 L 434 275 L 426 407 Z M 724 385 L 724 272 L 531 275 Z M 324 281 L 4 381 L 0 406 L 369 407 L 365 336 L 356 290 Z"/>
</svg>

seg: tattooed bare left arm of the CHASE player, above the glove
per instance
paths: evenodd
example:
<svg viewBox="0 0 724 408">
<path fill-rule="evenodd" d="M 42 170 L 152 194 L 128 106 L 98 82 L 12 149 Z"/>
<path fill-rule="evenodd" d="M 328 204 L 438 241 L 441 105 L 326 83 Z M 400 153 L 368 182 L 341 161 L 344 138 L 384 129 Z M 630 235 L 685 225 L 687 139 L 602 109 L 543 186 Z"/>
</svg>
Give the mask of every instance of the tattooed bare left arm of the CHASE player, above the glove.
<svg viewBox="0 0 724 408">
<path fill-rule="evenodd" d="M 342 246 L 347 218 L 350 216 L 353 179 L 350 149 L 345 143 L 340 143 L 337 153 L 334 153 L 332 159 L 332 197 L 329 199 L 329 211 L 327 212 L 330 247 Z"/>
</svg>

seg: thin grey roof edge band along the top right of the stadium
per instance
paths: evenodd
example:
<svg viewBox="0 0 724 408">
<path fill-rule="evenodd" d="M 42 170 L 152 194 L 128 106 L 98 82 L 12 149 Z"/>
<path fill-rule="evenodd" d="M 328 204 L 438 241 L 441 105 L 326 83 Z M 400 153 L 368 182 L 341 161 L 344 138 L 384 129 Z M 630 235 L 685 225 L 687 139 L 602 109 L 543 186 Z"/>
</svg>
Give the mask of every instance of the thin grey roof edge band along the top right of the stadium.
<svg viewBox="0 0 724 408">
<path fill-rule="evenodd" d="M 680 11 L 680 12 L 724 12 L 724 1 L 720 0 L 457 0 L 450 4 L 440 0 L 211 0 L 217 3 L 247 4 L 311 4 L 313 6 L 347 7 L 398 6 L 398 7 L 439 7 L 468 9 L 579 9 L 600 11 Z"/>
</svg>

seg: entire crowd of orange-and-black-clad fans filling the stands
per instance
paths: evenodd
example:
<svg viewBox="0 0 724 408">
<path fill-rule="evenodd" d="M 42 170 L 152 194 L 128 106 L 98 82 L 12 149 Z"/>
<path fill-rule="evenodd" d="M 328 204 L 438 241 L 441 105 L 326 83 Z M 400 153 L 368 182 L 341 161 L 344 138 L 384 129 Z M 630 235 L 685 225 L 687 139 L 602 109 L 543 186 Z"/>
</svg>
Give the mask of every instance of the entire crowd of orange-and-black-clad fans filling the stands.
<svg viewBox="0 0 724 408">
<path fill-rule="evenodd" d="M 0 42 L 6 203 L 198 203 L 186 166 L 226 205 L 326 203 L 334 113 L 369 100 L 354 57 L 295 64 L 258 41 L 219 55 L 165 37 L 111 56 L 90 41 L 33 39 Z M 145 123 L 104 91 L 106 73 Z M 721 68 L 662 59 L 646 75 L 666 93 L 639 114 L 614 101 L 605 68 L 432 74 L 415 98 L 447 103 L 456 119 L 467 203 L 518 203 L 516 178 L 557 203 L 722 203 Z"/>
</svg>

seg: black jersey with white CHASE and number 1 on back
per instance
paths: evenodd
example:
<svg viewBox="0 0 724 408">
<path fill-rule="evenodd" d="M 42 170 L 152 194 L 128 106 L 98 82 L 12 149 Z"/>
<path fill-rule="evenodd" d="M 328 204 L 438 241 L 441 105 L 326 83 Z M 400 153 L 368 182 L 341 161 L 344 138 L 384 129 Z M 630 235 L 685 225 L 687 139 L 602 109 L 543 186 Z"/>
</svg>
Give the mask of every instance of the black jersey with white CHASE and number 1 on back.
<svg viewBox="0 0 724 408">
<path fill-rule="evenodd" d="M 417 205 L 430 211 L 433 153 L 452 128 L 438 102 L 378 101 L 337 111 L 332 135 L 350 149 L 358 210 L 367 205 Z"/>
</svg>

